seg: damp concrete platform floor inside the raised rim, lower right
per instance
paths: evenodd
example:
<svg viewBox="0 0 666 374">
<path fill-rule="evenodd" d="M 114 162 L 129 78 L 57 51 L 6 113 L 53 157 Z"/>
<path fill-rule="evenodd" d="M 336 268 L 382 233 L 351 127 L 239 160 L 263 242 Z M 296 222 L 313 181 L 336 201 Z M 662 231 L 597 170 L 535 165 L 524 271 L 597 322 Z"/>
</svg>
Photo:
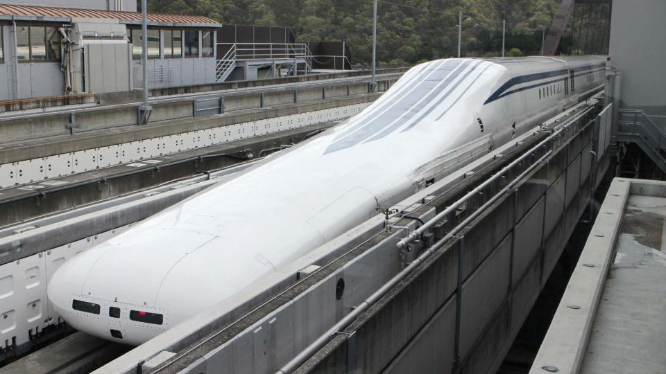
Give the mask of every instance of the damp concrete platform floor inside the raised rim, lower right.
<svg viewBox="0 0 666 374">
<path fill-rule="evenodd" d="M 665 224 L 666 198 L 629 196 L 581 373 L 666 371 Z"/>
</svg>

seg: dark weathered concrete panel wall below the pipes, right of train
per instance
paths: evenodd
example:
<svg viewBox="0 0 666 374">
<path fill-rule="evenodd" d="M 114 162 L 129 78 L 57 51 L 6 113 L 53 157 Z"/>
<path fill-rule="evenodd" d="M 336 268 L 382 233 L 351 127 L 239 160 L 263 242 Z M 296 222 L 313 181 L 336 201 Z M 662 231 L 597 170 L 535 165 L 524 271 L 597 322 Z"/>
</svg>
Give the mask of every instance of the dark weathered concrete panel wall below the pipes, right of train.
<svg viewBox="0 0 666 374">
<path fill-rule="evenodd" d="M 593 125 L 567 133 L 526 181 L 298 372 L 496 370 L 590 200 L 591 171 L 608 166 L 590 153 L 593 134 Z"/>
</svg>

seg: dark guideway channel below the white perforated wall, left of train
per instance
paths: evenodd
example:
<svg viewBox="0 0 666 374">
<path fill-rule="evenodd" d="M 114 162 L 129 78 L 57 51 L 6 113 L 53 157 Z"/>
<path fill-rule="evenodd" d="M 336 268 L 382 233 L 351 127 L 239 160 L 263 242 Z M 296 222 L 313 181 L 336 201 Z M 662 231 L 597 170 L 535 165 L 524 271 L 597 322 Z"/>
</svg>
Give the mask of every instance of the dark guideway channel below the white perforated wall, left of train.
<svg viewBox="0 0 666 374">
<path fill-rule="evenodd" d="M 257 159 L 339 123 L 331 121 L 0 190 L 0 227 Z M 26 225 L 23 225 L 26 226 Z M 29 226 L 29 225 L 27 225 Z"/>
</svg>

